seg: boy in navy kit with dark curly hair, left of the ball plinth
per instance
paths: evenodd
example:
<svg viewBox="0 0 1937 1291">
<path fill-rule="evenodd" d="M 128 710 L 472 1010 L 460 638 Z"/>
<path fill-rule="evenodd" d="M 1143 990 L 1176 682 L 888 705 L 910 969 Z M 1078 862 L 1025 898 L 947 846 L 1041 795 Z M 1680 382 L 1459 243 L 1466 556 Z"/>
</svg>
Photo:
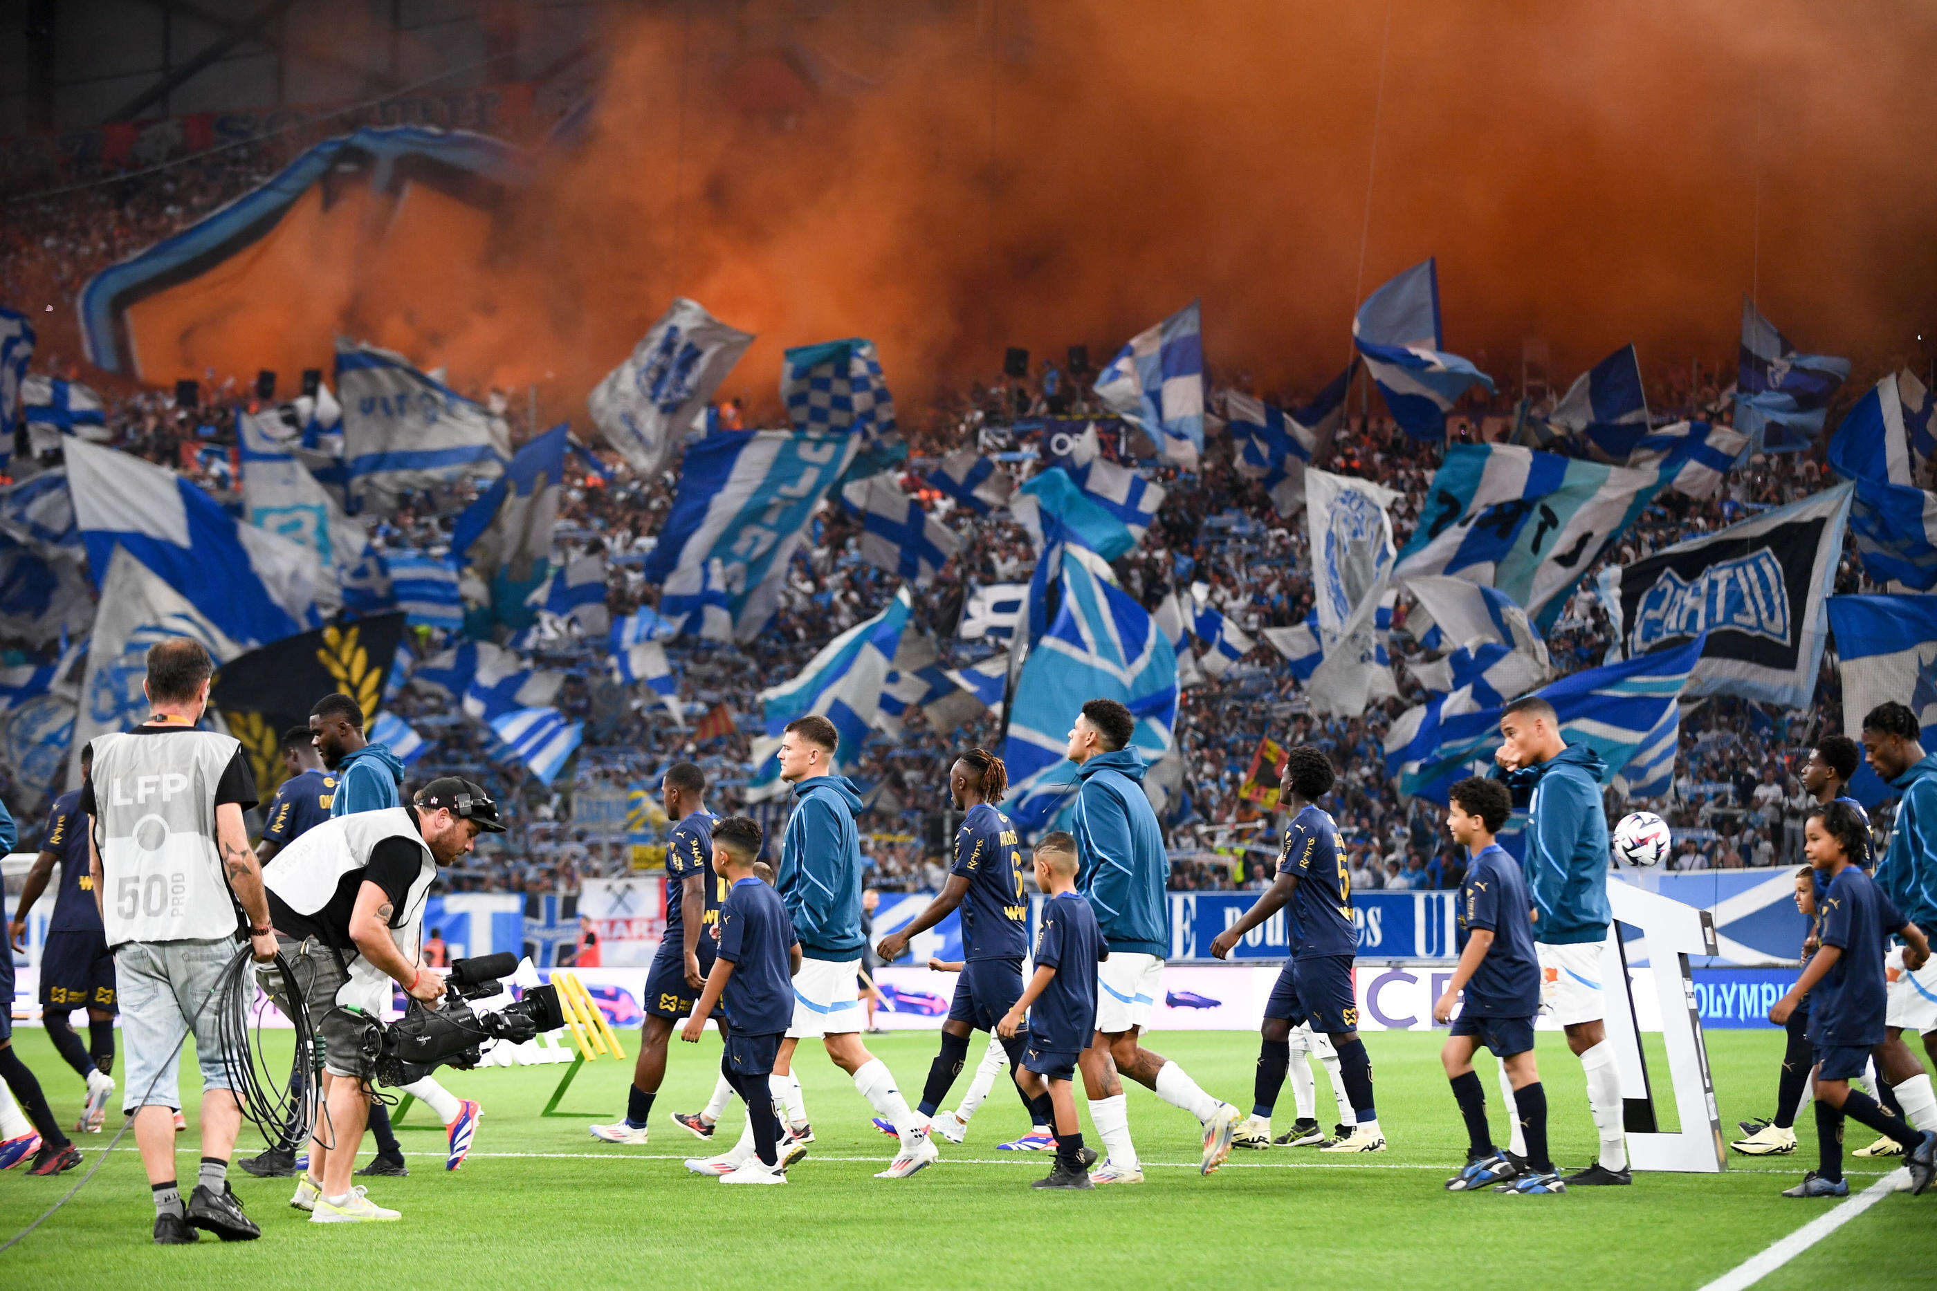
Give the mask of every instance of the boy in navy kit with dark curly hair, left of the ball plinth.
<svg viewBox="0 0 1937 1291">
<path fill-rule="evenodd" d="M 1468 1140 L 1466 1167 L 1447 1179 L 1447 1192 L 1478 1192 L 1488 1186 L 1517 1196 L 1565 1192 L 1567 1185 L 1548 1157 L 1548 1096 L 1534 1068 L 1540 956 L 1528 917 L 1532 902 L 1519 861 L 1493 842 L 1493 834 L 1513 815 L 1513 796 L 1497 780 L 1470 776 L 1453 786 L 1449 801 L 1447 828 L 1453 842 L 1472 856 L 1472 863 L 1459 894 L 1459 964 L 1445 995 L 1433 1005 L 1433 1022 L 1453 1022 L 1453 1036 L 1439 1051 L 1439 1061 L 1466 1121 Z M 1466 1001 L 1459 1018 L 1453 1018 L 1460 991 Z M 1493 1146 L 1486 1125 L 1486 1090 L 1472 1070 L 1472 1055 L 1482 1043 L 1513 1082 L 1513 1101 L 1526 1134 L 1524 1165 Z"/>
</svg>

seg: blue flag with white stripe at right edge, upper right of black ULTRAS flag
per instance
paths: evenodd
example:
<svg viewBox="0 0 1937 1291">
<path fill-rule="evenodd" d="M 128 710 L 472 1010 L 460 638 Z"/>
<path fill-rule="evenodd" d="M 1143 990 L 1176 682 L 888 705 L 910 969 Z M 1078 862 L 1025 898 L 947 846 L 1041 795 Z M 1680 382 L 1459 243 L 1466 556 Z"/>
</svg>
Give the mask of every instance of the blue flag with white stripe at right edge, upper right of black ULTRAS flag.
<svg viewBox="0 0 1937 1291">
<path fill-rule="evenodd" d="M 1863 571 L 1927 592 L 1937 586 L 1937 494 L 1910 484 L 1914 416 L 1900 377 L 1883 377 L 1836 426 L 1829 465 L 1856 482 L 1850 536 Z"/>
</svg>

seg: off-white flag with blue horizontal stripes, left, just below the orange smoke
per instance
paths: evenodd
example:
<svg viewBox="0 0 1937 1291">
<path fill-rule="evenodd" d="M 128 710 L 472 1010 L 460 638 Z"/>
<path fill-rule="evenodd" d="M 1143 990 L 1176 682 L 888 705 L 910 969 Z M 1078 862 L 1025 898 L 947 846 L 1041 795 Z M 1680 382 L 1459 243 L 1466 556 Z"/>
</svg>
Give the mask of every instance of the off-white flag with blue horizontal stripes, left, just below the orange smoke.
<svg viewBox="0 0 1937 1291">
<path fill-rule="evenodd" d="M 351 511 L 467 476 L 492 478 L 511 459 L 504 418 L 401 354 L 337 341 L 337 395 Z"/>
</svg>

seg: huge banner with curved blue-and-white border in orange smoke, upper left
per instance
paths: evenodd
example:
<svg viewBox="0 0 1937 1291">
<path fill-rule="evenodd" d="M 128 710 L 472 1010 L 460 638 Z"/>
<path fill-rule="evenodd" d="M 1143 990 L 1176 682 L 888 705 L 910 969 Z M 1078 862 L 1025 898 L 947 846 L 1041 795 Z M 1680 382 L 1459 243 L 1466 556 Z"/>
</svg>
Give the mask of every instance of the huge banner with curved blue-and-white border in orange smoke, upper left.
<svg viewBox="0 0 1937 1291">
<path fill-rule="evenodd" d="M 527 155 L 484 134 L 366 126 L 325 139 L 89 279 L 79 294 L 87 358 L 151 383 L 327 368 L 351 312 L 395 314 L 372 310 L 387 285 L 459 279 L 440 269 L 482 257 L 502 197 L 529 180 Z M 467 308 L 457 292 L 428 294 L 411 292 L 426 331 Z"/>
</svg>

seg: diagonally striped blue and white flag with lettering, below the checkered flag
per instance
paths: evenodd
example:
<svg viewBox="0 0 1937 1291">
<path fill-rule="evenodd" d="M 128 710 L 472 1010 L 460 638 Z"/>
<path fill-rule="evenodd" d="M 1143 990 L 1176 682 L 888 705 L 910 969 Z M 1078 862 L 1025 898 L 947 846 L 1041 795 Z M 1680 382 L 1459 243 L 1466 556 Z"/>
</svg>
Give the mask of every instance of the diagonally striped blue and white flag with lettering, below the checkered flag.
<svg viewBox="0 0 1937 1291">
<path fill-rule="evenodd" d="M 723 430 L 686 449 L 678 497 L 643 573 L 692 600 L 674 610 L 662 598 L 661 614 L 686 614 L 686 631 L 695 633 L 692 614 L 705 610 L 711 581 L 726 598 L 734 637 L 757 637 L 814 509 L 858 449 L 860 435 L 786 430 Z"/>
</svg>

